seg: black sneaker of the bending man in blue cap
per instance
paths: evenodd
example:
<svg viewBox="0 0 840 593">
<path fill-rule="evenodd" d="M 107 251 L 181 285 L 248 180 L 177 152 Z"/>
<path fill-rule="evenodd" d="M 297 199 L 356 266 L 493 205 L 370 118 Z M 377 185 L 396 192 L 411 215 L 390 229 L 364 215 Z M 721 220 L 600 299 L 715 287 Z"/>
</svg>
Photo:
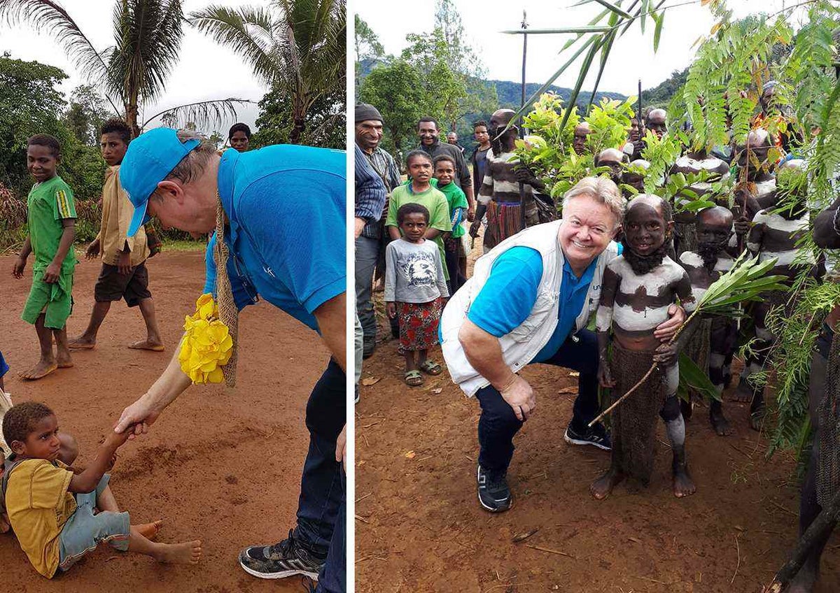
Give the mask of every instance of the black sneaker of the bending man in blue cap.
<svg viewBox="0 0 840 593">
<path fill-rule="evenodd" d="M 326 558 L 318 558 L 295 541 L 291 529 L 289 538 L 273 546 L 251 546 L 239 552 L 239 565 L 249 575 L 260 579 L 284 579 L 304 575 L 318 579 Z"/>
</svg>

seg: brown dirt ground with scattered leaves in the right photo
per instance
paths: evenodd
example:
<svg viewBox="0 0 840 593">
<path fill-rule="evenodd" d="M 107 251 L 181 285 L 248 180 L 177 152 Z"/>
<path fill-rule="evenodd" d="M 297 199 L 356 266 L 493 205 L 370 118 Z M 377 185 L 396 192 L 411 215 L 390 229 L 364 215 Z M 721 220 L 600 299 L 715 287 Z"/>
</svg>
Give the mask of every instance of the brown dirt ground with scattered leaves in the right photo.
<svg viewBox="0 0 840 593">
<path fill-rule="evenodd" d="M 478 403 L 445 372 L 407 387 L 397 341 L 383 337 L 365 361 L 355 408 L 360 593 L 757 593 L 784 564 L 797 534 L 795 460 L 765 459 L 747 404 L 728 401 L 737 377 L 724 394 L 735 434 L 714 434 L 707 408 L 686 426 L 694 496 L 673 496 L 660 425 L 650 486 L 623 482 L 599 502 L 589 485 L 609 453 L 563 440 L 577 379 L 526 367 L 538 410 L 515 440 L 513 507 L 496 515 L 477 500 Z M 439 346 L 432 357 L 443 362 Z M 834 537 L 818 593 L 840 590 L 838 548 Z"/>
</svg>

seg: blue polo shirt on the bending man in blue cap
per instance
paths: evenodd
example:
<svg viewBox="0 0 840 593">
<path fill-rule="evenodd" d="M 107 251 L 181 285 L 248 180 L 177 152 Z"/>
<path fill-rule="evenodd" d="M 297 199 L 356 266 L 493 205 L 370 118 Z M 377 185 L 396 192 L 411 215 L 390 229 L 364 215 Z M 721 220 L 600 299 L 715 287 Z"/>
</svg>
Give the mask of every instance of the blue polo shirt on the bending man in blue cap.
<svg viewBox="0 0 840 593">
<path fill-rule="evenodd" d="M 328 148 L 223 153 L 218 193 L 230 221 L 224 241 L 239 310 L 259 295 L 318 330 L 312 311 L 346 290 L 346 169 L 344 151 Z M 204 285 L 213 294 L 215 245 L 213 235 Z"/>
</svg>

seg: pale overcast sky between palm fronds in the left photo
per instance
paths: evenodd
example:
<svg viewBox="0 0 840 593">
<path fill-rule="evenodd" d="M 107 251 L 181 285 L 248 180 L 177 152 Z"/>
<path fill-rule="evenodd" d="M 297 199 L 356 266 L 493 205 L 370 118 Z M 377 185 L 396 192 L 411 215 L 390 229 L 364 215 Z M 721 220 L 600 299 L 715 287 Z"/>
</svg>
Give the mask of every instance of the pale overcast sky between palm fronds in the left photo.
<svg viewBox="0 0 840 593">
<path fill-rule="evenodd" d="M 71 18 L 76 21 L 81 31 L 91 39 L 97 50 L 113 45 L 112 12 L 115 0 L 58 0 L 66 8 Z M 184 0 L 184 13 L 213 4 L 223 6 L 242 6 L 267 4 L 268 0 Z M 35 33 L 27 25 L 17 25 L 14 28 L 0 23 L 0 55 L 4 51 L 12 54 L 18 60 L 37 60 L 43 64 L 55 65 L 70 75 L 61 91 L 69 96 L 78 85 L 87 83 L 79 75 L 70 60 L 65 57 L 64 50 L 49 33 Z M 162 111 L 167 107 L 175 107 L 184 103 L 239 97 L 259 101 L 267 88 L 258 83 L 248 65 L 234 55 L 234 52 L 222 47 L 207 35 L 198 33 L 189 25 L 184 25 L 184 39 L 181 42 L 181 60 L 169 76 L 165 92 L 154 103 L 146 106 L 145 117 Z M 253 126 L 259 109 L 256 105 L 238 107 L 238 120 L 230 119 L 218 127 L 218 132 L 227 136 L 228 128 L 236 121 L 245 122 Z M 158 124 L 160 125 L 160 124 Z M 155 127 L 155 124 L 151 124 Z M 212 132 L 212 130 L 203 130 Z"/>
</svg>

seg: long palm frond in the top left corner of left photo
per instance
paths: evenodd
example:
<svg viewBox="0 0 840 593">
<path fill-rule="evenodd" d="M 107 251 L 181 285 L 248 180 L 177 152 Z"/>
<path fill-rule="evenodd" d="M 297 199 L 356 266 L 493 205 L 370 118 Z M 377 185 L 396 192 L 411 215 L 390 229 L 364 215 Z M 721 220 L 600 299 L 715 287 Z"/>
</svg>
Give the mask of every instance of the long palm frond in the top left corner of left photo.
<svg viewBox="0 0 840 593">
<path fill-rule="evenodd" d="M 29 23 L 39 33 L 49 33 L 86 78 L 102 77 L 108 69 L 91 40 L 58 3 L 50 0 L 0 0 L 0 19 L 11 26 Z"/>
</svg>

